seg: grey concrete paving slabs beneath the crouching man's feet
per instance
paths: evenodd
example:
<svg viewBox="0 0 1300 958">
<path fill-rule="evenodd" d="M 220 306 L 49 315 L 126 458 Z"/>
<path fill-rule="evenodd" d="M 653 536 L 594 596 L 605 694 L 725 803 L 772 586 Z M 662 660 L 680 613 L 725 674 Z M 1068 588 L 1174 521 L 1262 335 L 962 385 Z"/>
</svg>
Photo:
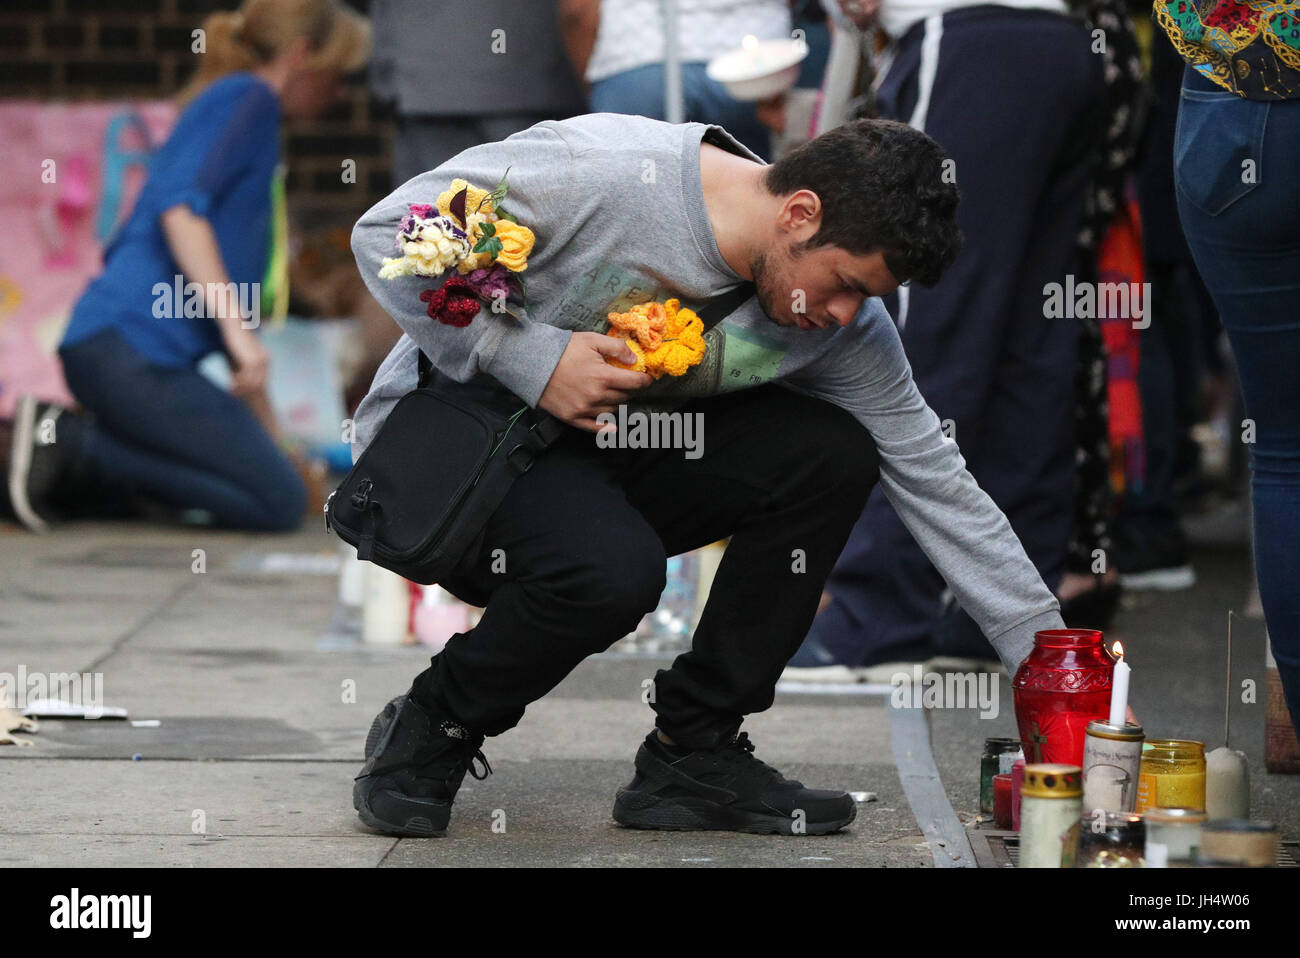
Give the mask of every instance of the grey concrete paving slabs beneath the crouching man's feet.
<svg viewBox="0 0 1300 958">
<path fill-rule="evenodd" d="M 489 740 L 494 775 L 467 779 L 441 840 L 372 835 L 351 780 L 373 715 L 410 684 L 421 646 L 332 647 L 335 580 L 259 571 L 270 554 L 318 558 L 337 541 L 79 523 L 46 537 L 0 530 L 0 672 L 103 672 L 129 721 L 43 720 L 31 747 L 0 746 L 0 863 L 60 866 L 890 866 L 933 858 L 890 747 L 881 695 L 785 694 L 746 723 L 758 754 L 811 786 L 874 792 L 828 837 L 654 833 L 610 819 L 651 725 L 641 682 L 667 655 L 611 651 L 575 671 L 524 723 Z M 196 572 L 196 552 L 203 567 Z M 1221 744 L 1222 611 L 1240 608 L 1240 543 L 1197 554 L 1201 584 L 1130 601 L 1134 706 L 1150 734 Z M 1262 623 L 1239 620 L 1238 669 L 1262 688 Z M 1256 664 L 1258 667 L 1256 667 Z M 352 694 L 355 693 L 355 694 Z M 933 755 L 962 822 L 978 806 L 983 738 L 997 719 L 930 715 Z M 1234 715 L 1264 816 L 1300 832 L 1300 777 L 1266 776 L 1262 705 Z M 138 758 L 136 758 L 138 757 Z M 202 825 L 202 828 L 200 828 Z"/>
</svg>

